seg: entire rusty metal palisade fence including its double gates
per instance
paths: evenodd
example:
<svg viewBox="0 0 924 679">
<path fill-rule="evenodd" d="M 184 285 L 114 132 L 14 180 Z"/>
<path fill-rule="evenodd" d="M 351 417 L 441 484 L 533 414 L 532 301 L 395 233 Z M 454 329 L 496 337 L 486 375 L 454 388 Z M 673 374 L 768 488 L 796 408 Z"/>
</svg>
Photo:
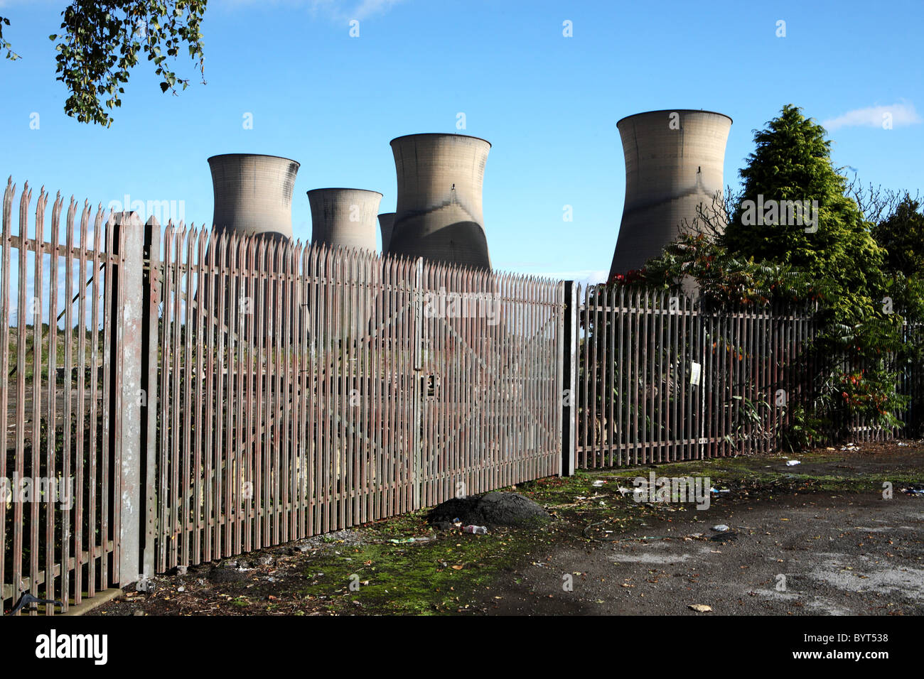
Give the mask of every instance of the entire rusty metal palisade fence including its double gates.
<svg viewBox="0 0 924 679">
<path fill-rule="evenodd" d="M 772 451 L 812 397 L 808 312 L 63 215 L 60 196 L 46 224 L 28 186 L 14 220 L 16 194 L 5 612 L 578 467 Z M 902 380 L 920 394 L 917 367 Z"/>
</svg>

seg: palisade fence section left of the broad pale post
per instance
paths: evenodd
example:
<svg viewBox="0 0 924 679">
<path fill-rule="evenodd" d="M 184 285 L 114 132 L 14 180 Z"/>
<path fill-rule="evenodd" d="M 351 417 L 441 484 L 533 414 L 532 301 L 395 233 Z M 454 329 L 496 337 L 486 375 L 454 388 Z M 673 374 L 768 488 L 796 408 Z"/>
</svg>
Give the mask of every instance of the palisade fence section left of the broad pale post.
<svg viewBox="0 0 924 679">
<path fill-rule="evenodd" d="M 124 232 L 73 199 L 62 227 L 60 194 L 46 225 L 44 189 L 30 220 L 28 184 L 17 229 L 15 193 L 8 182 L 0 243 L 0 599 L 25 591 L 60 611 L 120 578 L 123 365 L 110 348 Z"/>
</svg>

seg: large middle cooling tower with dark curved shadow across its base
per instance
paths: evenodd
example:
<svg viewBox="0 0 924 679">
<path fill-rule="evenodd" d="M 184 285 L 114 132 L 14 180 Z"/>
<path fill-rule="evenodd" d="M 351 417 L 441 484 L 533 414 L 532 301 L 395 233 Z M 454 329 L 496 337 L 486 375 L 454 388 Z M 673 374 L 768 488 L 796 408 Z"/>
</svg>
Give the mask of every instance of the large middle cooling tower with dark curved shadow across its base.
<svg viewBox="0 0 924 679">
<path fill-rule="evenodd" d="M 457 134 L 392 139 L 398 195 L 388 254 L 491 269 L 481 213 L 491 144 Z"/>
</svg>

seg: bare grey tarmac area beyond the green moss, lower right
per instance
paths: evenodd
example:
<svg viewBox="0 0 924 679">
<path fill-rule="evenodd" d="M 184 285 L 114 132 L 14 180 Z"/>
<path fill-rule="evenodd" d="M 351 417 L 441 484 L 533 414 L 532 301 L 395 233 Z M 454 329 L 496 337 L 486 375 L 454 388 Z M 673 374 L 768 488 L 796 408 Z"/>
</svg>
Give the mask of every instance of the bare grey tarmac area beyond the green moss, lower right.
<svg viewBox="0 0 924 679">
<path fill-rule="evenodd" d="M 781 496 L 686 514 L 618 542 L 554 549 L 507 574 L 487 612 L 703 615 L 689 606 L 705 604 L 737 615 L 924 613 L 922 499 Z M 711 529 L 719 524 L 730 529 Z"/>
</svg>

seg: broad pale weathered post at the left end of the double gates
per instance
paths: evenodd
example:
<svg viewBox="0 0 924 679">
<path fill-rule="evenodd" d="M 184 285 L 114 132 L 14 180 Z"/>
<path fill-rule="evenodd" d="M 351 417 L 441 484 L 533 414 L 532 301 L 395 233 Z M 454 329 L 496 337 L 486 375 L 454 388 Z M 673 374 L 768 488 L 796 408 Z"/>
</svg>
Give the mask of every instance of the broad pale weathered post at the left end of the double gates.
<svg viewBox="0 0 924 679">
<path fill-rule="evenodd" d="M 114 274 L 112 321 L 112 430 L 114 493 L 114 580 L 125 587 L 139 577 L 141 527 L 141 327 L 144 316 L 144 225 L 136 212 L 114 215 L 118 264 Z"/>
</svg>

